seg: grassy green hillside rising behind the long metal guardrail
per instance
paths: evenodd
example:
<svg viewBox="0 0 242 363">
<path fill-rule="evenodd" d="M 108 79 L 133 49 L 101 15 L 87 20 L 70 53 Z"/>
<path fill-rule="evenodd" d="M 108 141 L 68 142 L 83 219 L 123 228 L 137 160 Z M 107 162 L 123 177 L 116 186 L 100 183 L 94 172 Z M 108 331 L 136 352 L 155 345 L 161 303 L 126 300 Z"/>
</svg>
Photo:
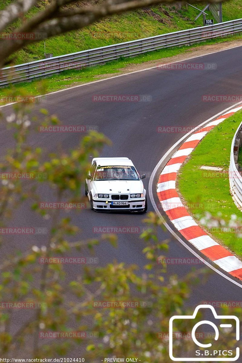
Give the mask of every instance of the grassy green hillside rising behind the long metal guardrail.
<svg viewBox="0 0 242 363">
<path fill-rule="evenodd" d="M 28 17 L 40 11 L 46 2 L 46 0 L 40 1 L 38 7 L 29 12 Z M 0 2 L 0 9 L 3 9 L 9 3 L 11 3 L 11 0 L 2 0 Z M 196 6 L 202 8 L 204 5 Z M 182 19 L 180 16 L 182 15 L 194 20 L 198 13 L 196 9 L 188 7 L 186 10 L 185 5 L 183 5 L 181 11 L 176 9 L 176 12 L 174 12 L 175 9 L 175 5 L 165 6 L 163 4 L 121 15 L 114 15 L 83 30 L 66 33 L 46 40 L 46 53 L 53 53 L 54 56 L 59 56 L 202 25 L 202 16 L 196 21 L 195 25 L 189 19 Z M 241 0 L 228 1 L 223 4 L 223 20 L 237 19 L 238 17 L 242 17 Z M 208 18 L 212 19 L 212 16 L 210 15 Z M 18 21 L 19 24 L 20 22 L 21 20 Z M 12 30 L 13 28 L 9 28 L 10 32 Z M 44 58 L 44 41 L 30 45 L 17 52 L 14 62 L 15 64 L 20 64 L 42 58 Z"/>
</svg>

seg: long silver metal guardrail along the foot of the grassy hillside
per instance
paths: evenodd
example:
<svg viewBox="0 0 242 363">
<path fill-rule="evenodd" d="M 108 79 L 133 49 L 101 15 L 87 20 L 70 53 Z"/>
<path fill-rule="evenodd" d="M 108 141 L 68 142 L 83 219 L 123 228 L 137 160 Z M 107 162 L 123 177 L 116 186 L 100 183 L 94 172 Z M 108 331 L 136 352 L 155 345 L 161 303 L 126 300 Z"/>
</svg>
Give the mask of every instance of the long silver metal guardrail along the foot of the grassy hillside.
<svg viewBox="0 0 242 363">
<path fill-rule="evenodd" d="M 206 39 L 223 37 L 239 32 L 242 32 L 242 19 L 180 30 L 179 32 L 161 34 L 155 37 L 132 40 L 130 42 L 6 67 L 1 69 L 0 86 L 8 85 L 10 82 L 29 81 L 34 78 L 49 76 L 67 69 L 78 69 L 95 64 L 103 64 L 121 57 L 132 57 L 141 53 L 151 52 L 152 50 L 190 45 Z"/>
</svg>

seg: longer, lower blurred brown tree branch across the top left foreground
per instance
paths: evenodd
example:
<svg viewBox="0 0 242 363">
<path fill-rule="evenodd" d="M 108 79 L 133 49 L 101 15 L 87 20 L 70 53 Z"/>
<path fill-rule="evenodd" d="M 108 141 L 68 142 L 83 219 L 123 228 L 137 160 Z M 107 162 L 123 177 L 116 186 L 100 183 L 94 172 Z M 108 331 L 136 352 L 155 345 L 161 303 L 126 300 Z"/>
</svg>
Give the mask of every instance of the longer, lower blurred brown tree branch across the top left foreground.
<svg viewBox="0 0 242 363">
<path fill-rule="evenodd" d="M 20 1 L 20 0 L 19 0 Z M 27 3 L 34 0 L 24 0 Z M 204 0 L 196 0 L 196 3 L 202 3 Z M 211 0 L 212 3 L 218 3 L 220 0 Z M 42 33 L 48 38 L 57 36 L 71 30 L 85 28 L 86 26 L 95 23 L 107 16 L 130 11 L 138 8 L 147 7 L 150 5 L 162 3 L 173 3 L 174 0 L 120 0 L 115 2 L 107 0 L 101 5 L 93 5 L 88 7 L 77 7 L 75 9 L 60 10 L 63 5 L 76 3 L 77 0 L 55 0 L 44 11 L 38 13 L 32 19 L 28 20 L 15 33 Z M 0 41 L 0 67 L 4 61 L 22 49 L 26 45 L 38 42 L 39 37 L 26 39 L 2 40 Z"/>
</svg>

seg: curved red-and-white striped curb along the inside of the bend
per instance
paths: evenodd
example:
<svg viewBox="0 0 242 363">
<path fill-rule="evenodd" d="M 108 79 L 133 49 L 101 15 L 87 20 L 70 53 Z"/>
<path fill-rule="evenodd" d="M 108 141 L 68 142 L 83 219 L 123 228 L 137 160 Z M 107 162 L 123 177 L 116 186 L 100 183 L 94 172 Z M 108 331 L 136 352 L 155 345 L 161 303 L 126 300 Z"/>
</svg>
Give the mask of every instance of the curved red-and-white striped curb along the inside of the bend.
<svg viewBox="0 0 242 363">
<path fill-rule="evenodd" d="M 208 236 L 194 221 L 192 216 L 189 215 L 177 194 L 176 178 L 182 163 L 184 163 L 187 156 L 194 150 L 200 140 L 215 126 L 241 109 L 242 106 L 235 107 L 229 113 L 221 115 L 216 120 L 209 122 L 201 130 L 189 136 L 168 161 L 159 176 L 157 184 L 158 199 L 175 228 L 201 253 L 239 280 L 242 280 L 242 261 Z"/>
</svg>

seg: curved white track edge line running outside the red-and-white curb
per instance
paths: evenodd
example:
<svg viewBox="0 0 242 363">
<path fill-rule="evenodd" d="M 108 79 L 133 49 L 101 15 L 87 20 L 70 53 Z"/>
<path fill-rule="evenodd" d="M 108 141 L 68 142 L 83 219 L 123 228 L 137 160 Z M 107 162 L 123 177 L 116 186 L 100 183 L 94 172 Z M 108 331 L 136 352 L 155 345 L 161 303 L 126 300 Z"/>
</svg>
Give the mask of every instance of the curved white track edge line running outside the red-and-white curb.
<svg viewBox="0 0 242 363">
<path fill-rule="evenodd" d="M 217 53 L 217 52 L 216 52 Z M 164 217 L 161 215 L 159 209 L 157 208 L 156 204 L 155 204 L 155 199 L 153 196 L 153 181 L 155 178 L 155 175 L 157 173 L 157 170 L 160 168 L 160 165 L 163 163 L 163 161 L 165 160 L 165 158 L 167 158 L 167 156 L 176 148 L 177 145 L 179 145 L 181 143 L 182 140 L 184 140 L 185 138 L 188 137 L 188 135 L 190 135 L 191 133 L 194 132 L 194 130 L 198 129 L 199 127 L 205 125 L 206 123 L 215 120 L 217 117 L 227 113 L 227 111 L 232 110 L 233 108 L 235 108 L 236 106 L 241 105 L 241 101 L 235 103 L 233 106 L 227 107 L 225 110 L 217 113 L 216 115 L 214 115 L 213 117 L 210 117 L 209 119 L 207 119 L 206 121 L 202 122 L 200 125 L 194 127 L 193 130 L 189 131 L 186 135 L 182 136 L 180 138 L 180 140 L 178 140 L 172 147 L 169 148 L 169 150 L 165 153 L 165 155 L 163 155 L 163 157 L 160 159 L 160 161 L 156 164 L 156 167 L 154 168 L 154 170 L 152 171 L 151 177 L 149 179 L 149 186 L 148 186 L 148 192 L 149 192 L 149 197 L 151 199 L 151 203 L 152 206 L 155 210 L 155 212 L 157 213 L 157 215 L 160 217 L 160 219 L 163 221 L 164 226 L 167 228 L 167 230 L 173 235 L 173 237 L 176 238 L 177 241 L 179 241 L 187 250 L 189 250 L 189 252 L 191 252 L 194 256 L 196 256 L 197 258 L 199 258 L 200 261 L 202 261 L 206 266 L 208 266 L 210 269 L 212 269 L 214 272 L 218 273 L 220 276 L 224 277 L 226 280 L 232 282 L 234 285 L 237 285 L 239 287 L 242 288 L 242 284 L 240 284 L 239 282 L 231 279 L 229 276 L 226 276 L 223 272 L 221 272 L 220 270 L 216 269 L 213 265 L 211 265 L 208 261 L 204 260 L 204 258 L 202 258 L 197 252 L 195 252 L 188 244 L 186 244 L 186 242 L 184 242 L 175 231 L 173 231 L 173 229 L 169 226 L 169 224 L 165 221 Z M 155 188 L 156 189 L 156 188 Z"/>
</svg>

